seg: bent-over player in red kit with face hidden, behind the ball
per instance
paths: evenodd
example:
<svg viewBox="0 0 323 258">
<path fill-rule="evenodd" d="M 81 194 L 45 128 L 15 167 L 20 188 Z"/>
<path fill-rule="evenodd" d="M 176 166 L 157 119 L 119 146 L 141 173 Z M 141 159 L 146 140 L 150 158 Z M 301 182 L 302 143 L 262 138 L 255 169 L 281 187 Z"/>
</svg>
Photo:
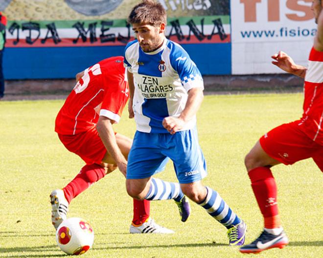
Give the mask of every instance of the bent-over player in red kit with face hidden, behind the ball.
<svg viewBox="0 0 323 258">
<path fill-rule="evenodd" d="M 77 84 L 67 97 L 55 121 L 55 131 L 65 147 L 86 163 L 63 189 L 50 194 L 52 224 L 55 229 L 66 219 L 69 203 L 116 166 L 126 176 L 127 157 L 132 140 L 115 133 L 129 98 L 123 57 L 100 61 L 76 76 Z M 180 186 L 177 194 L 180 192 Z M 183 193 L 182 193 L 183 194 Z M 149 201 L 134 200 L 130 233 L 173 233 L 149 217 Z"/>
</svg>

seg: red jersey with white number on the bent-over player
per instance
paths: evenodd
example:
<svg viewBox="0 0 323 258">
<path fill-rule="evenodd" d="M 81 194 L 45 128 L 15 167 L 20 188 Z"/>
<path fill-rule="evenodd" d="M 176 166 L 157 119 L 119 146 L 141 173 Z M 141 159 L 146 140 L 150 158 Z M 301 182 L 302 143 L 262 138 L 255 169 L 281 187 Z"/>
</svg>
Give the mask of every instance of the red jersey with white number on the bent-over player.
<svg viewBox="0 0 323 258">
<path fill-rule="evenodd" d="M 55 132 L 85 132 L 96 125 L 99 116 L 117 123 L 128 98 L 123 57 L 104 59 L 84 71 L 56 117 Z"/>
</svg>

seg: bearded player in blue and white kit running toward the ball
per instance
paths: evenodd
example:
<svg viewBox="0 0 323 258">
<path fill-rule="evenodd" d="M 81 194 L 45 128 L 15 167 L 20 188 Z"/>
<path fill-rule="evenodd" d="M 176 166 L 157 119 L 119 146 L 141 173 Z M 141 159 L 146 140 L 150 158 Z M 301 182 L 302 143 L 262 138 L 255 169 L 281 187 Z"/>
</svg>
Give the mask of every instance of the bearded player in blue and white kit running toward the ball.
<svg viewBox="0 0 323 258">
<path fill-rule="evenodd" d="M 137 123 L 128 156 L 128 194 L 173 199 L 170 183 L 151 178 L 170 158 L 183 193 L 228 229 L 230 245 L 242 245 L 246 224 L 215 190 L 201 183 L 207 166 L 196 131 L 195 114 L 204 89 L 200 71 L 180 45 L 165 38 L 166 12 L 160 3 L 144 0 L 132 9 L 128 22 L 137 36 L 126 46 L 124 59 L 129 116 Z"/>
</svg>

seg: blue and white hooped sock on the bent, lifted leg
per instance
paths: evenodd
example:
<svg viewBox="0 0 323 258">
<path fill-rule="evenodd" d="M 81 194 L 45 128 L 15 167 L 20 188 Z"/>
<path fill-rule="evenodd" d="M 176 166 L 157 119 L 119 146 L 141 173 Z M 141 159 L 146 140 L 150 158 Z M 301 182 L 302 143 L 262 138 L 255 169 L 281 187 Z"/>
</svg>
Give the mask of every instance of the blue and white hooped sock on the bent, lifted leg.
<svg viewBox="0 0 323 258">
<path fill-rule="evenodd" d="M 184 197 L 179 183 L 165 182 L 158 178 L 152 178 L 146 200 L 170 200 L 179 202 Z"/>
</svg>

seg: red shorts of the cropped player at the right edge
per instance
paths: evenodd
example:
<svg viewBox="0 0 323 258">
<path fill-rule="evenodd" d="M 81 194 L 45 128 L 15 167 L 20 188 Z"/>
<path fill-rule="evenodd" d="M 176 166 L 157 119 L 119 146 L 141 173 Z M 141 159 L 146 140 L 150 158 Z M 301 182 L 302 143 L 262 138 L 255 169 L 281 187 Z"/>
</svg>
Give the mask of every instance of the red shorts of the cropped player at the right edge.
<svg viewBox="0 0 323 258">
<path fill-rule="evenodd" d="M 310 139 L 298 125 L 300 120 L 282 124 L 260 138 L 263 150 L 285 164 L 312 158 L 323 172 L 323 146 Z"/>
</svg>

